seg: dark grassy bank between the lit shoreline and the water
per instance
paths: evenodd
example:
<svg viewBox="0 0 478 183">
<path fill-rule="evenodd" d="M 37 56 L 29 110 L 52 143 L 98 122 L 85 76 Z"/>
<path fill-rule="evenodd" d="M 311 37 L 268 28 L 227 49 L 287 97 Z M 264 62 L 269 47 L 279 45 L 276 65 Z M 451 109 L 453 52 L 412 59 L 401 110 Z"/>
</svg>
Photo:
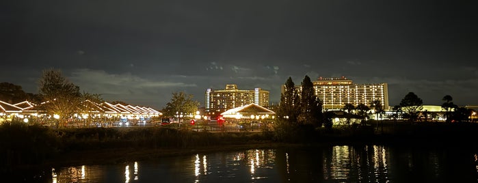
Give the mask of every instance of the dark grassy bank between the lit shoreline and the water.
<svg viewBox="0 0 478 183">
<path fill-rule="evenodd" d="M 330 129 L 302 125 L 262 132 L 195 132 L 159 127 L 53 130 L 11 122 L 0 126 L 0 163 L 1 173 L 5 174 L 31 166 L 59 165 L 65 160 L 95 153 L 90 158 L 125 161 L 161 153 L 177 155 L 277 145 L 457 145 L 465 142 L 476 145 L 477 130 L 478 124 L 472 123 L 374 121 Z"/>
</svg>

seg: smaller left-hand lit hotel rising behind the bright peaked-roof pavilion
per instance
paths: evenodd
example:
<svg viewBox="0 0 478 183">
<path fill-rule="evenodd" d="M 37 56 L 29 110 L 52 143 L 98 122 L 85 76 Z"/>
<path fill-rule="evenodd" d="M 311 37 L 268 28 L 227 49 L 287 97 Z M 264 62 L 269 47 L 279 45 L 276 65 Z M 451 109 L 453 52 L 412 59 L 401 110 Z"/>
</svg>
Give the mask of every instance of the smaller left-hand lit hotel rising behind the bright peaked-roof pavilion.
<svg viewBox="0 0 478 183">
<path fill-rule="evenodd" d="M 226 85 L 223 90 L 206 89 L 204 98 L 205 111 L 211 114 L 251 103 L 269 107 L 269 91 L 258 87 L 254 90 L 243 90 L 237 89 L 237 85 Z"/>
</svg>

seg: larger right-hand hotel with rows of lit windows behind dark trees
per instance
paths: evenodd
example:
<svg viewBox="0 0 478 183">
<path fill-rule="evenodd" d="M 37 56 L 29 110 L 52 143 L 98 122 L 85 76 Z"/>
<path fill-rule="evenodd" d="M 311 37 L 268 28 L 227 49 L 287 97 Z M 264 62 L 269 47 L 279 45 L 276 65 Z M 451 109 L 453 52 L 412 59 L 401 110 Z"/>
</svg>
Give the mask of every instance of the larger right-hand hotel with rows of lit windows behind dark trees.
<svg viewBox="0 0 478 183">
<path fill-rule="evenodd" d="M 369 106 L 373 100 L 379 100 L 385 110 L 389 108 L 387 83 L 355 84 L 344 76 L 340 78 L 319 77 L 312 83 L 315 95 L 323 102 L 325 110 L 343 109 L 345 104 Z M 301 88 L 296 86 L 296 89 L 300 91 Z M 282 86 L 282 92 L 284 92 L 284 86 Z"/>
</svg>

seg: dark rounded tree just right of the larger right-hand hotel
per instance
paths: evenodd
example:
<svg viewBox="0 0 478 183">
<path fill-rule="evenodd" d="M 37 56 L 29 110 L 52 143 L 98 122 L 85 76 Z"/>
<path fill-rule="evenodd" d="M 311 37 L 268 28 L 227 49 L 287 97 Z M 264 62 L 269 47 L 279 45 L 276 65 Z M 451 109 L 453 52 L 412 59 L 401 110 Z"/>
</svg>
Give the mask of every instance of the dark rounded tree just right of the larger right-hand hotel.
<svg viewBox="0 0 478 183">
<path fill-rule="evenodd" d="M 423 109 L 423 100 L 413 92 L 409 92 L 400 102 L 401 110 L 406 112 L 410 122 L 414 122 L 419 112 Z"/>
</svg>

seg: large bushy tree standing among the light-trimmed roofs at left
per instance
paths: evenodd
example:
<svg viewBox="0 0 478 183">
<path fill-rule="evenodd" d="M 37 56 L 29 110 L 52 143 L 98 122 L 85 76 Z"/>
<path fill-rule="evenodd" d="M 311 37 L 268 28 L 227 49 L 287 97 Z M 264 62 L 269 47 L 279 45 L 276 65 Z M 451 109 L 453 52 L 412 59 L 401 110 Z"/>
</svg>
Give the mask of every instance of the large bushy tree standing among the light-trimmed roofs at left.
<svg viewBox="0 0 478 183">
<path fill-rule="evenodd" d="M 42 107 L 50 115 L 59 115 L 60 122 L 66 122 L 81 102 L 79 87 L 53 69 L 44 70 L 38 83 L 44 101 Z"/>
</svg>

